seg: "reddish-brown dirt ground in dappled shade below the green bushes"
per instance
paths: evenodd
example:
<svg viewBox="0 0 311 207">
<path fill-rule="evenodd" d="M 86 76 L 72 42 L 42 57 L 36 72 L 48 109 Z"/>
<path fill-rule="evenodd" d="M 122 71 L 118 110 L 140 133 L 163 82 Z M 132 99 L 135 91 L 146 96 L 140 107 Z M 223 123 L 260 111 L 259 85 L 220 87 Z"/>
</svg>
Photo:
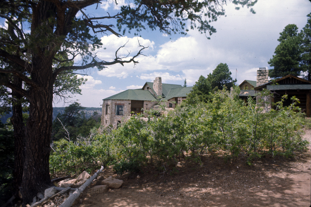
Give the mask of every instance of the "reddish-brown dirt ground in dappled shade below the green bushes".
<svg viewBox="0 0 311 207">
<path fill-rule="evenodd" d="M 306 130 L 305 139 L 311 139 Z M 82 193 L 80 204 L 86 206 L 275 206 L 309 207 L 311 204 L 311 153 L 295 159 L 258 160 L 253 166 L 245 160 L 225 164 L 223 159 L 206 159 L 203 165 L 180 163 L 179 172 L 164 175 L 154 171 L 134 176 L 117 176 L 106 169 L 101 178 L 122 179 L 123 186 L 101 195 Z M 137 175 L 140 178 L 137 178 Z"/>
</svg>

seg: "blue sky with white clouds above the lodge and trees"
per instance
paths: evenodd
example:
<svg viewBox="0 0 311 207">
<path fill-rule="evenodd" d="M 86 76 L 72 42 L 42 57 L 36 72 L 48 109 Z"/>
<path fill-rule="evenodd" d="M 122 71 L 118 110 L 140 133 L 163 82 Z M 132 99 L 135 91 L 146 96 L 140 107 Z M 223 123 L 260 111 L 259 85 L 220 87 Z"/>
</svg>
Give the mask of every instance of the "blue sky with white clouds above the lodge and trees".
<svg viewBox="0 0 311 207">
<path fill-rule="evenodd" d="M 118 6 L 128 3 L 122 1 L 119 0 Z M 87 8 L 85 13 L 101 16 L 109 12 L 114 15 L 118 7 L 113 5 L 103 3 L 97 10 Z M 310 8 L 309 0 L 259 0 L 253 7 L 256 14 L 252 14 L 248 8 L 237 11 L 233 4 L 227 3 L 226 16 L 211 23 L 217 30 L 211 39 L 197 30 L 190 30 L 186 36 L 166 36 L 158 30 L 142 31 L 141 37 L 134 37 L 134 32 L 120 38 L 112 34 L 98 36 L 106 49 L 97 51 L 97 57 L 106 61 L 112 60 L 118 47 L 126 42 L 126 47 L 119 53 L 125 56 L 128 51 L 131 56 L 139 50 L 138 40 L 141 45 L 149 47 L 143 52 L 145 56 L 137 58 L 139 64 L 135 66 L 129 63 L 112 65 L 101 71 L 96 68 L 79 71 L 88 74 L 84 76 L 88 80 L 81 86 L 82 95 L 76 95 L 71 101 L 78 100 L 85 107 L 101 107 L 102 99 L 127 89 L 140 88 L 157 76 L 162 77 L 163 83 L 181 85 L 187 79 L 188 86 L 192 86 L 200 75 L 207 77 L 219 63 L 227 63 L 238 84 L 245 79 L 256 80 L 259 67 L 271 68 L 267 62 L 279 44 L 279 33 L 288 24 L 296 24 L 300 31 L 307 23 Z M 79 59 L 75 62 L 78 63 Z M 63 102 L 54 104 L 56 107 L 67 105 Z"/>
</svg>

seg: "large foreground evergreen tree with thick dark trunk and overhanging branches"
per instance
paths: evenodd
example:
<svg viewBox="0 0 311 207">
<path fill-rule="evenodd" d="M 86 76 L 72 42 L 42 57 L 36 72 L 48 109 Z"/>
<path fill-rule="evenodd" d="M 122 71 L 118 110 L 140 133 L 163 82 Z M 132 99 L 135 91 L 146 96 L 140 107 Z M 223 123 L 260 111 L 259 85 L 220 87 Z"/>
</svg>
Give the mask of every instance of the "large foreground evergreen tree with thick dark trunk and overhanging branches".
<svg viewBox="0 0 311 207">
<path fill-rule="evenodd" d="M 247 7 L 257 2 L 228 1 Z M 125 57 L 120 56 L 117 50 L 115 59 L 102 61 L 95 52 L 102 43 L 92 34 L 114 34 L 120 37 L 126 31 L 133 29 L 136 34 L 147 27 L 151 30 L 159 29 L 166 34 L 186 34 L 186 21 L 189 21 L 191 29 L 212 34 L 216 29 L 210 23 L 225 14 L 223 5 L 226 1 L 136 0 L 122 6 L 121 11 L 114 16 L 92 16 L 86 13 L 86 7 L 98 3 L 98 0 L 0 1 L 0 17 L 8 25 L 0 28 L 0 61 L 11 66 L 1 68 L 0 85 L 12 89 L 29 101 L 26 130 L 20 131 L 22 140 L 15 145 L 23 158 L 15 166 L 20 169 L 14 177 L 18 183 L 15 189 L 16 192 L 20 189 L 24 206 L 32 202 L 37 192 L 51 185 L 49 153 L 53 88 L 57 77 L 70 71 L 93 67 L 101 70 L 113 64 L 137 64 L 137 56 L 146 48 L 139 45 L 140 50 L 136 54 Z M 110 3 L 114 4 L 114 1 Z M 79 11 L 82 18 L 76 17 Z M 112 20 L 116 21 L 115 25 Z M 29 25 L 29 28 L 24 25 Z M 81 57 L 81 64 L 71 65 L 77 56 Z M 13 114 L 20 111 L 18 107 L 13 110 Z M 19 115 L 13 121 L 20 123 L 20 119 Z"/>
</svg>

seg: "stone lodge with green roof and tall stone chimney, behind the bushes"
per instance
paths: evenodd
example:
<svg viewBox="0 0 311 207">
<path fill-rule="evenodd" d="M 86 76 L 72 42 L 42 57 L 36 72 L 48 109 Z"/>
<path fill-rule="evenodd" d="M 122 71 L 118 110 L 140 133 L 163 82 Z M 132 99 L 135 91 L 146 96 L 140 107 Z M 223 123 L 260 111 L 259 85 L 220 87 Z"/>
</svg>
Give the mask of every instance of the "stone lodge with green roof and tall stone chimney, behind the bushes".
<svg viewBox="0 0 311 207">
<path fill-rule="evenodd" d="M 177 84 L 162 83 L 161 77 L 154 82 L 146 82 L 140 89 L 128 89 L 103 99 L 101 125 L 116 127 L 121 121 L 126 121 L 133 114 L 144 114 L 157 105 L 156 99 L 163 98 L 166 108 L 175 108 L 186 99 L 192 87 L 182 87 Z"/>
</svg>

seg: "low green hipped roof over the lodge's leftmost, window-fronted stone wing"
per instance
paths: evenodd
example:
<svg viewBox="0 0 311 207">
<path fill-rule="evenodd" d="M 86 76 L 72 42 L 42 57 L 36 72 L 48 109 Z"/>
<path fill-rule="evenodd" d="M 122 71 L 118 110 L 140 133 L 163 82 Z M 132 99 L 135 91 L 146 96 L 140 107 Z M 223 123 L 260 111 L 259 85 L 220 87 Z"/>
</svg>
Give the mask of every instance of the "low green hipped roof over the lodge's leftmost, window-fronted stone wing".
<svg viewBox="0 0 311 207">
<path fill-rule="evenodd" d="M 103 100 L 137 100 L 137 101 L 155 101 L 155 97 L 146 90 L 142 89 L 128 89 L 126 91 L 117 93 Z"/>
</svg>

